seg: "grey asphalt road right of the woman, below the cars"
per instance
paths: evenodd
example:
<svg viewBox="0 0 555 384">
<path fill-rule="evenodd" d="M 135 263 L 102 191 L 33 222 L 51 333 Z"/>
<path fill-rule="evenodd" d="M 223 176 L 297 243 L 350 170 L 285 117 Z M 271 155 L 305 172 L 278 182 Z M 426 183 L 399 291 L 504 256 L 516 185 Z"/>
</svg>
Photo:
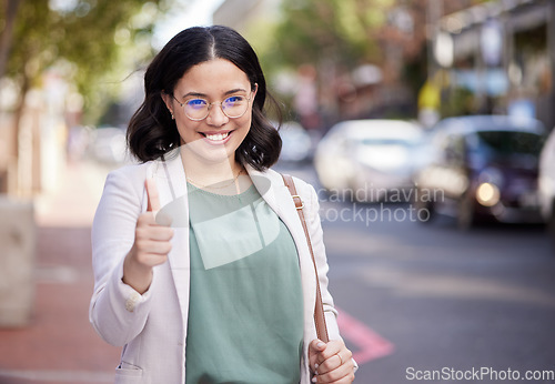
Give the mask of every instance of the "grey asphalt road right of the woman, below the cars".
<svg viewBox="0 0 555 384">
<path fill-rule="evenodd" d="M 279 170 L 317 189 L 310 166 Z M 543 226 L 461 232 L 447 218 L 417 223 L 411 204 L 319 192 L 356 383 L 555 383 L 555 250 Z"/>
</svg>

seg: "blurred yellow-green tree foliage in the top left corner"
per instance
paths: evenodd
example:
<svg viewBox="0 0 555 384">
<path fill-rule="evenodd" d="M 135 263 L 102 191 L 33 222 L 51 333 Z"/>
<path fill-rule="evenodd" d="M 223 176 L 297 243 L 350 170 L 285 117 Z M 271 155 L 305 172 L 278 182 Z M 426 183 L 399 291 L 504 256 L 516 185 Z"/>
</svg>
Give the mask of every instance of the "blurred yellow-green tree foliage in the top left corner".
<svg viewBox="0 0 555 384">
<path fill-rule="evenodd" d="M 170 0 L 24 0 L 7 75 L 37 84 L 44 70 L 57 67 L 84 95 L 93 119 L 110 88 L 107 73 L 117 73 L 122 59 L 129 60 L 121 54 L 129 46 L 142 47 L 127 50 L 133 60 L 150 57 L 153 23 L 160 7 L 169 4 Z"/>
</svg>

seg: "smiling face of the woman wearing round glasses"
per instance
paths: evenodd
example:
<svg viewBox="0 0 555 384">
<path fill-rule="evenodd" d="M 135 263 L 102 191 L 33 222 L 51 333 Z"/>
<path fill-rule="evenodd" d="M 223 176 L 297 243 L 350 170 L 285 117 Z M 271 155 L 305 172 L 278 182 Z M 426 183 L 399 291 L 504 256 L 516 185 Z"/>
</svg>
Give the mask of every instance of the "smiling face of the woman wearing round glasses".
<svg viewBox="0 0 555 384">
<path fill-rule="evenodd" d="M 210 163 L 234 161 L 235 151 L 249 133 L 252 102 L 256 89 L 251 90 L 246 74 L 228 60 L 214 59 L 192 67 L 179 80 L 173 98 L 164 94 L 164 102 L 173 113 L 181 144 L 199 160 Z M 246 98 L 246 112 L 239 118 L 223 113 L 221 102 Z M 229 99 L 231 98 L 231 99 Z M 193 121 L 185 114 L 185 105 L 210 105 L 208 117 Z M 213 103 L 213 104 L 212 104 Z"/>
</svg>

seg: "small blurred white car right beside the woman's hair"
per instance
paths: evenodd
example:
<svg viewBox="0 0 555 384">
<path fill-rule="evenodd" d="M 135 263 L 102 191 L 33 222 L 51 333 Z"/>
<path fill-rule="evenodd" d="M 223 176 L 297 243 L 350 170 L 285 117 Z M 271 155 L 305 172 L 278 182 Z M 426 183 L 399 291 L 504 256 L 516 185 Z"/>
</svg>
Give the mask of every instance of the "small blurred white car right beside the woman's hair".
<svg viewBox="0 0 555 384">
<path fill-rule="evenodd" d="M 312 158 L 313 140 L 306 130 L 295 121 L 284 122 L 280 127 L 282 148 L 280 161 L 303 162 Z"/>
</svg>

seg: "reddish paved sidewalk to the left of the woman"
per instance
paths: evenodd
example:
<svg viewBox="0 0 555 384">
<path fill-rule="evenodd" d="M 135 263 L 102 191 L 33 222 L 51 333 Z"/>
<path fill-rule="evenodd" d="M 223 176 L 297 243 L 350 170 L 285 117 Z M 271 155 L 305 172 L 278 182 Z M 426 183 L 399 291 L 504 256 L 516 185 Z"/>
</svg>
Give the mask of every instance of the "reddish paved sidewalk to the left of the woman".
<svg viewBox="0 0 555 384">
<path fill-rule="evenodd" d="M 90 226 L 105 170 L 71 165 L 37 200 L 36 309 L 24 329 L 0 329 L 0 384 L 112 383 L 120 348 L 89 323 Z"/>
</svg>

